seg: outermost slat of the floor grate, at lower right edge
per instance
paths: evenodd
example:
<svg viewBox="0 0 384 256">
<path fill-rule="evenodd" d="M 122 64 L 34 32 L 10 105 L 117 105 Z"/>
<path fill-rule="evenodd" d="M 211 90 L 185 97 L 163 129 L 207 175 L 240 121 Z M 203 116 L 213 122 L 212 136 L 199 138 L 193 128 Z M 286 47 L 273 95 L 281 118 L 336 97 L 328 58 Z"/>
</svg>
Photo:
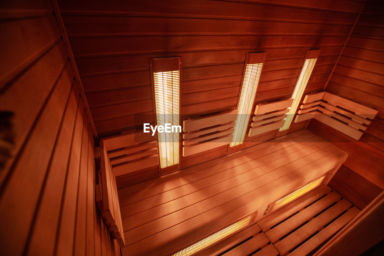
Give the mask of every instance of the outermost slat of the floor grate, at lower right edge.
<svg viewBox="0 0 384 256">
<path fill-rule="evenodd" d="M 341 215 L 338 219 L 336 219 L 333 223 L 329 224 L 326 228 L 321 230 L 318 234 L 314 235 L 310 240 L 306 241 L 299 248 L 295 249 L 290 256 L 301 256 L 307 255 L 314 249 L 316 249 L 319 245 L 324 243 L 328 238 L 330 238 L 333 234 L 338 232 L 345 224 L 347 224 L 351 219 L 353 219 L 360 210 L 356 207 L 351 208 L 346 213 Z"/>
</svg>

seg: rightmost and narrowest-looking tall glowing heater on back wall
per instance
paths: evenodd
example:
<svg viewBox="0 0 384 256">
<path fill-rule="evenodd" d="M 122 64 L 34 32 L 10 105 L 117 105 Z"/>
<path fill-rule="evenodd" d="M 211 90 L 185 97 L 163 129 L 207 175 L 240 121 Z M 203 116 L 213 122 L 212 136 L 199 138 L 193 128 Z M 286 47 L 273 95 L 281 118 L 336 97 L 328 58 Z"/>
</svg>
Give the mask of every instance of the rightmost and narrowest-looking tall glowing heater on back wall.
<svg viewBox="0 0 384 256">
<path fill-rule="evenodd" d="M 310 79 L 313 67 L 316 64 L 316 60 L 319 57 L 319 54 L 320 50 L 309 50 L 307 52 L 299 78 L 296 82 L 295 90 L 291 96 L 291 98 L 293 98 L 293 103 L 291 107 L 288 108 L 290 111 L 288 112 L 288 116 L 285 118 L 283 127 L 281 127 L 279 131 L 287 130 L 290 127 L 293 116 L 295 116 L 300 100 L 303 97 L 305 87 L 307 86 L 308 80 Z"/>
</svg>

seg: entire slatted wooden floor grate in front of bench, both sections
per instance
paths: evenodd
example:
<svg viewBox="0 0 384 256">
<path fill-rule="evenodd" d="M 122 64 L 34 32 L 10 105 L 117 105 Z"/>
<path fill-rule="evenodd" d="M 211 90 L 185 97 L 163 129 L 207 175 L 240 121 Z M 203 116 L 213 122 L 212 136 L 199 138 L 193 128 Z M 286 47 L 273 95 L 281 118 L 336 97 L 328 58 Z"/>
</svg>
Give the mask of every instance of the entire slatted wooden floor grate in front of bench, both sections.
<svg viewBox="0 0 384 256">
<path fill-rule="evenodd" d="M 198 255 L 313 255 L 359 212 L 323 185 Z"/>
</svg>

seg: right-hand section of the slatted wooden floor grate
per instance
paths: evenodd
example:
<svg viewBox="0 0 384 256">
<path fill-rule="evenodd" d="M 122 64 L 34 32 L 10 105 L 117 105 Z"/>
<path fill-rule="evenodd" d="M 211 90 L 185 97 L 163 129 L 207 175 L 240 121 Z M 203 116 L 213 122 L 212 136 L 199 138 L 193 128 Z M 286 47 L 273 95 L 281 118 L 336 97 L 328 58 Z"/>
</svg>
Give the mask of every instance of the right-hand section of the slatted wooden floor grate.
<svg viewBox="0 0 384 256">
<path fill-rule="evenodd" d="M 360 210 L 323 185 L 257 224 L 281 256 L 311 253 Z"/>
</svg>

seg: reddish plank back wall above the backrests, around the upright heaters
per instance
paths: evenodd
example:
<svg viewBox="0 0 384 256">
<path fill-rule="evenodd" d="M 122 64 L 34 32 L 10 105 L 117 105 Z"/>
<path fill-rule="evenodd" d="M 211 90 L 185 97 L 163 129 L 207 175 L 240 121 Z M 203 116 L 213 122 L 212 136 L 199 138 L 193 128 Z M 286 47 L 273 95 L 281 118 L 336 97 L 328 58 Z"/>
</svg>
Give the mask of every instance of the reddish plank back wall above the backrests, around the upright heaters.
<svg viewBox="0 0 384 256">
<path fill-rule="evenodd" d="M 308 49 L 321 53 L 306 92 L 322 90 L 362 5 L 59 1 L 99 137 L 132 128 L 136 113 L 153 113 L 150 58 L 181 57 L 182 119 L 235 109 L 249 52 L 266 52 L 256 103 L 291 95 Z"/>
</svg>

